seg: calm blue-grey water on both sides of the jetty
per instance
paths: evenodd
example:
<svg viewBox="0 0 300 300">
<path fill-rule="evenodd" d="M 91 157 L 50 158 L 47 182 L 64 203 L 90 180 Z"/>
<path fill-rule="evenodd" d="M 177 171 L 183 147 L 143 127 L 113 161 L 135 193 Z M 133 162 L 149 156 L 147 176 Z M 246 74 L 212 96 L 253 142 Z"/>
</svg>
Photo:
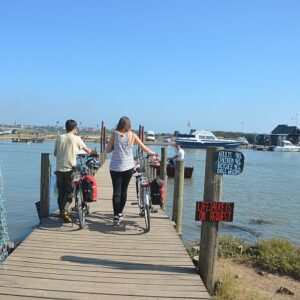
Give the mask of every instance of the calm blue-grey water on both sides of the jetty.
<svg viewBox="0 0 300 300">
<path fill-rule="evenodd" d="M 88 144 L 99 149 L 99 145 Z M 13 241 L 22 240 L 38 224 L 35 202 L 39 201 L 41 153 L 52 153 L 53 142 L 32 144 L 1 141 L 0 161 L 4 177 L 8 232 Z M 151 147 L 160 153 L 160 147 Z M 221 233 L 243 237 L 250 242 L 260 238 L 281 237 L 300 245 L 300 153 L 241 150 L 244 172 L 223 176 L 222 201 L 235 203 L 234 221 L 222 223 Z M 174 148 L 168 147 L 168 156 Z M 194 166 L 192 179 L 185 180 L 183 238 L 200 237 L 201 222 L 194 221 L 195 203 L 203 200 L 205 150 L 187 149 L 186 165 Z M 55 160 L 50 155 L 53 170 Z M 52 171 L 53 174 L 53 171 Z M 52 176 L 51 186 L 54 185 Z M 168 180 L 169 216 L 172 211 L 174 180 Z M 51 210 L 56 209 L 51 188 Z M 263 220 L 252 224 L 253 220 Z"/>
</svg>

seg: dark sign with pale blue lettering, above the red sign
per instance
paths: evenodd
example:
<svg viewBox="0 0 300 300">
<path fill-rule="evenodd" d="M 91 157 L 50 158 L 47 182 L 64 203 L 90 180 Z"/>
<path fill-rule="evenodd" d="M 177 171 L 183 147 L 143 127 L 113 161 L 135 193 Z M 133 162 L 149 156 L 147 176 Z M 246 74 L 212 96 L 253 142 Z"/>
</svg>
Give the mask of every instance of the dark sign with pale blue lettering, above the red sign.
<svg viewBox="0 0 300 300">
<path fill-rule="evenodd" d="M 214 171 L 218 175 L 239 175 L 244 169 L 244 154 L 234 150 L 219 150 L 215 154 Z"/>
</svg>

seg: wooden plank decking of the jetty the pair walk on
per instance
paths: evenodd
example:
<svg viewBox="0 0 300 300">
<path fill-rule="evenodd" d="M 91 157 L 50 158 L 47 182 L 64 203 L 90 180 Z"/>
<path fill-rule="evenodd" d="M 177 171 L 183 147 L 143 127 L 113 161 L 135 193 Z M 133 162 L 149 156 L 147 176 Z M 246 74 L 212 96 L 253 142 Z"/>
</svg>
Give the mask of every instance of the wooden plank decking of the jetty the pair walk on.
<svg viewBox="0 0 300 300">
<path fill-rule="evenodd" d="M 165 213 L 152 214 L 145 233 L 132 180 L 114 227 L 108 161 L 96 177 L 87 227 L 56 214 L 43 221 L 0 265 L 0 299 L 210 299 Z"/>
</svg>

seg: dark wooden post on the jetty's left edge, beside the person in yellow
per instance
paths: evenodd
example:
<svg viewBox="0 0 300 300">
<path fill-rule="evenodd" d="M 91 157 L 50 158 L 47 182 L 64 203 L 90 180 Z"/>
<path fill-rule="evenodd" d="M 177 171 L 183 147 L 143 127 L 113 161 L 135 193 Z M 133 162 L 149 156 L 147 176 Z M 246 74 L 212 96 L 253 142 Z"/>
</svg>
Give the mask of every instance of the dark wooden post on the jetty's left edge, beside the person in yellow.
<svg viewBox="0 0 300 300">
<path fill-rule="evenodd" d="M 40 220 L 49 216 L 50 206 L 50 153 L 41 156 Z"/>
</svg>

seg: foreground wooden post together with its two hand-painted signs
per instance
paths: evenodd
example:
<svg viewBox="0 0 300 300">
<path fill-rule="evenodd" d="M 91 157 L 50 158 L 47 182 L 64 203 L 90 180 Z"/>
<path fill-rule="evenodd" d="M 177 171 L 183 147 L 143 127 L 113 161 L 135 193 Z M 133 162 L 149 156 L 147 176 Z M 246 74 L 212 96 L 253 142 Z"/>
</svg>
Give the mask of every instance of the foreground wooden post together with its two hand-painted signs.
<svg viewBox="0 0 300 300">
<path fill-rule="evenodd" d="M 220 202 L 222 175 L 238 175 L 243 171 L 243 166 L 244 155 L 241 152 L 217 147 L 207 149 L 204 201 L 196 203 L 195 220 L 202 221 L 198 272 L 210 294 L 215 288 L 219 222 L 233 220 L 234 203 Z"/>
</svg>

